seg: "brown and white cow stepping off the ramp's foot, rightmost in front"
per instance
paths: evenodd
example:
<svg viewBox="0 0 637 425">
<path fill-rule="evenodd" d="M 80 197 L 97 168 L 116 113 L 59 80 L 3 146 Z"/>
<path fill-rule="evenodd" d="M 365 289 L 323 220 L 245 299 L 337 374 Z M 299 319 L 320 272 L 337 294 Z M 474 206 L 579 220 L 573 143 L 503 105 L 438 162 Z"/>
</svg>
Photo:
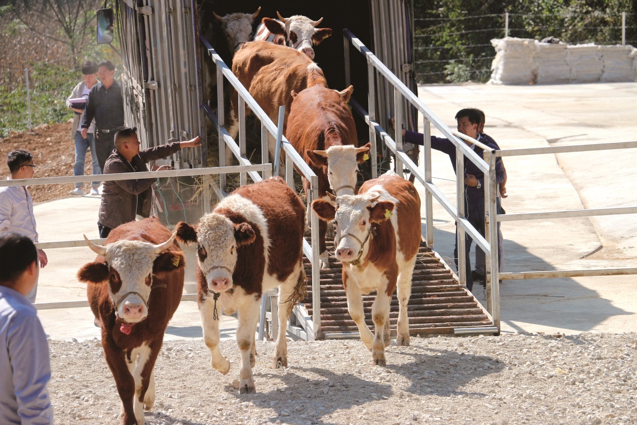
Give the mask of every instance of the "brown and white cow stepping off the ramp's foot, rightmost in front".
<svg viewBox="0 0 637 425">
<path fill-rule="evenodd" d="M 334 202 L 318 199 L 312 208 L 322 220 L 335 220 L 336 258 L 343 262 L 347 309 L 371 351 L 372 363 L 385 366 L 389 346 L 389 307 L 398 288 L 396 343 L 410 343 L 407 303 L 420 245 L 420 197 L 408 180 L 394 172 L 365 182 L 356 196 Z M 364 320 L 362 295 L 376 291 L 371 307 L 372 335 Z"/>
</svg>

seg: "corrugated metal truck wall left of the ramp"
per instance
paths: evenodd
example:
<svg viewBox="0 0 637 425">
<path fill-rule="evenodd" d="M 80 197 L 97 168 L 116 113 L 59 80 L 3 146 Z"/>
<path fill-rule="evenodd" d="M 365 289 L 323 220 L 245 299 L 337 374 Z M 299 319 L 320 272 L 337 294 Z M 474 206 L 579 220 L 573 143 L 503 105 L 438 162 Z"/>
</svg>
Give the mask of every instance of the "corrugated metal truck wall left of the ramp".
<svg viewBox="0 0 637 425">
<path fill-rule="evenodd" d="M 120 0 L 125 119 L 143 147 L 202 135 L 194 0 Z M 177 168 L 201 166 L 201 149 L 175 154 Z"/>
</svg>

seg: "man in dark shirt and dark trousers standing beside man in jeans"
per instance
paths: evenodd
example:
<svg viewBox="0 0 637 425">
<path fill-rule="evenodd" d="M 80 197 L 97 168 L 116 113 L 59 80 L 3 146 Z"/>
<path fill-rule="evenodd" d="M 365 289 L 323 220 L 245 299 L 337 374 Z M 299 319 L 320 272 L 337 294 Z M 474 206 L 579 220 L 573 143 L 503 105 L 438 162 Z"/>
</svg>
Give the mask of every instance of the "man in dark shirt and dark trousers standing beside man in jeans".
<svg viewBox="0 0 637 425">
<path fill-rule="evenodd" d="M 115 79 L 115 65 L 110 60 L 97 64 L 97 74 L 101 81 L 90 89 L 82 122 L 82 137 L 86 138 L 90 122 L 95 118 L 95 150 L 99 167 L 104 172 L 106 158 L 115 147 L 115 132 L 124 125 L 124 98 L 122 86 Z"/>
</svg>

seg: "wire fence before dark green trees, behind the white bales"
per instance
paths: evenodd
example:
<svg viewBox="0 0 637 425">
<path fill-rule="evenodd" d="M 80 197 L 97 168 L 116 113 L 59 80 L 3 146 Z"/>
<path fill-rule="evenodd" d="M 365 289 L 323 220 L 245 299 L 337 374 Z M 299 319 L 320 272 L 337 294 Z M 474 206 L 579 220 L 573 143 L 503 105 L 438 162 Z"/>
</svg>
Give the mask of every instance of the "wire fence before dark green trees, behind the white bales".
<svg viewBox="0 0 637 425">
<path fill-rule="evenodd" d="M 414 18 L 415 72 L 419 83 L 486 82 L 495 49 L 491 39 L 506 36 L 568 44 L 637 46 L 637 13 L 501 13 Z"/>
</svg>

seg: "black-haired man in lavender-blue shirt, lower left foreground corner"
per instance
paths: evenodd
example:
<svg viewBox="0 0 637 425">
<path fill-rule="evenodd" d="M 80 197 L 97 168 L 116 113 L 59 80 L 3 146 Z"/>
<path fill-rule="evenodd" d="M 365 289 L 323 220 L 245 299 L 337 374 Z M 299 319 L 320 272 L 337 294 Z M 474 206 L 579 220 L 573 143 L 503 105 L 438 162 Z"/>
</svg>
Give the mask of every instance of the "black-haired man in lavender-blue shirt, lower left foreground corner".
<svg viewBox="0 0 637 425">
<path fill-rule="evenodd" d="M 31 239 L 0 233 L 0 424 L 52 425 L 47 335 L 26 299 L 38 282 Z"/>
</svg>

